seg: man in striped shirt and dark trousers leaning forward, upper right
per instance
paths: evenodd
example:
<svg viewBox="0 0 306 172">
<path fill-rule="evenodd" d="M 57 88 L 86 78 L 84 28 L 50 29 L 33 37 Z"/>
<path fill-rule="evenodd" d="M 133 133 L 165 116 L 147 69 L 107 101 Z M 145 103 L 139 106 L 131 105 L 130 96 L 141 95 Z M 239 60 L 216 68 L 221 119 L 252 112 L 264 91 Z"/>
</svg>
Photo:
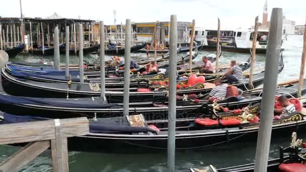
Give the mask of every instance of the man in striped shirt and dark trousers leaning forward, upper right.
<svg viewBox="0 0 306 172">
<path fill-rule="evenodd" d="M 231 68 L 222 75 L 222 79 L 227 79 L 228 83 L 237 82 L 242 79 L 242 69 L 236 64 L 235 60 L 231 61 Z"/>
</svg>

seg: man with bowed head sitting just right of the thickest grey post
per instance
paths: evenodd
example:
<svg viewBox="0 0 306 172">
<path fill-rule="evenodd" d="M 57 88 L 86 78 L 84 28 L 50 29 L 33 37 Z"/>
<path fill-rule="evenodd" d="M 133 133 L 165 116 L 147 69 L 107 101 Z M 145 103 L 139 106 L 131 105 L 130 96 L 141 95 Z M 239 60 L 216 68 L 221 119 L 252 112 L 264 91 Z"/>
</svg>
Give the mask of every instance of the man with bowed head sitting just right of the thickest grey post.
<svg viewBox="0 0 306 172">
<path fill-rule="evenodd" d="M 280 113 L 280 117 L 286 117 L 292 112 L 295 111 L 295 106 L 290 103 L 290 101 L 286 98 L 286 96 L 280 96 L 277 98 L 277 102 L 280 106 L 282 106 L 282 109 L 274 109 L 274 113 Z"/>
</svg>

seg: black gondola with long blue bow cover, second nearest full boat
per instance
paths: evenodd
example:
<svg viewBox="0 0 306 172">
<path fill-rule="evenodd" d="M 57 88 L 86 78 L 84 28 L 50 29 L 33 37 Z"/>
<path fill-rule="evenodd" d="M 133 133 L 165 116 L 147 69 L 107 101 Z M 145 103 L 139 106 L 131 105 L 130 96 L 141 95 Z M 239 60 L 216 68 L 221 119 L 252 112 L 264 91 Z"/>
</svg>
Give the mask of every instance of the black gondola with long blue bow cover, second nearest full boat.
<svg viewBox="0 0 306 172">
<path fill-rule="evenodd" d="M 279 86 L 276 95 L 297 96 L 297 83 L 287 83 Z M 302 94 L 306 94 L 306 81 L 303 84 Z M 240 109 L 248 105 L 254 105 L 261 101 L 262 90 L 246 91 L 238 100 L 236 97 L 228 97 L 218 101 L 220 106 L 228 109 Z M 194 101 L 193 98 L 187 100 L 177 100 L 177 118 L 197 117 L 203 113 L 209 114 L 211 102 L 207 100 Z M 0 95 L 0 110 L 11 114 L 24 114 L 47 118 L 71 118 L 71 117 L 116 117 L 123 113 L 122 104 L 112 104 L 103 102 L 100 97 L 93 98 L 29 98 Z M 146 120 L 167 119 L 168 103 L 139 102 L 129 104 L 130 114 L 143 114 Z"/>
</svg>

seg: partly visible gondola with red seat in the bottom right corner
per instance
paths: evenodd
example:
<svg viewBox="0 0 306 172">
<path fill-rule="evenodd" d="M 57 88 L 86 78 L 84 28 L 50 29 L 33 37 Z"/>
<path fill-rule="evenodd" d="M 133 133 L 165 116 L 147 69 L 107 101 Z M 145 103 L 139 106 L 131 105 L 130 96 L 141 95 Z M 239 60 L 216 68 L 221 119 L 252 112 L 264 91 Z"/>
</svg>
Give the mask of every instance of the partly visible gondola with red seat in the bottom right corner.
<svg viewBox="0 0 306 172">
<path fill-rule="evenodd" d="M 291 136 L 291 143 L 296 141 L 293 137 L 295 137 L 296 133 L 293 132 Z M 285 154 L 288 153 L 288 154 Z M 283 171 L 283 169 L 287 169 L 288 171 L 306 171 L 306 165 L 302 163 L 305 161 L 304 154 L 306 153 L 305 147 L 300 145 L 295 147 L 282 147 L 279 149 L 279 157 L 268 160 L 267 171 Z M 203 171 L 205 169 L 206 172 L 253 172 L 255 168 L 255 163 L 249 163 L 244 165 L 237 165 L 225 168 L 216 168 L 213 165 L 208 165 L 205 167 L 199 168 L 190 168 L 189 172 L 197 172 Z"/>
</svg>

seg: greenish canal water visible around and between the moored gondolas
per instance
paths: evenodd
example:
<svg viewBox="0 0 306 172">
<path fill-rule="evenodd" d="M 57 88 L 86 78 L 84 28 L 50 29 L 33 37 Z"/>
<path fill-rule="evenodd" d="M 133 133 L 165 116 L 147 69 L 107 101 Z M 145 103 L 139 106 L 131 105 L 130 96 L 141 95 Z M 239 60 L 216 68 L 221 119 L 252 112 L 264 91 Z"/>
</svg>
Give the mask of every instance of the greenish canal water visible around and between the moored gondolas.
<svg viewBox="0 0 306 172">
<path fill-rule="evenodd" d="M 283 56 L 285 57 L 284 70 L 278 75 L 278 82 L 296 79 L 299 75 L 300 57 L 302 51 L 302 36 L 288 36 L 284 41 Z M 201 56 L 208 55 L 212 52 L 199 52 L 198 57 L 194 60 L 201 63 Z M 143 54 L 133 54 L 140 56 Z M 179 54 L 179 56 L 185 53 Z M 235 59 L 238 62 L 247 60 L 249 54 L 222 52 L 220 65 L 228 64 L 230 60 Z M 85 56 L 91 62 L 98 59 L 98 56 Z M 269 58 L 269 57 L 268 57 Z M 16 62 L 39 62 L 53 60 L 53 57 L 43 56 L 24 56 L 18 55 L 11 61 Z M 78 64 L 79 57 L 70 56 L 70 64 Z M 61 63 L 64 63 L 64 56 L 61 56 Z M 255 72 L 264 68 L 265 55 L 256 56 Z M 279 145 L 286 146 L 290 142 L 290 135 L 273 139 L 270 146 L 270 158 L 278 157 Z M 298 138 L 306 138 L 306 134 L 298 134 Z M 17 151 L 19 147 L 2 145 L 0 146 L 0 161 L 5 160 Z M 176 152 L 176 168 L 178 171 L 184 171 L 190 167 L 201 167 L 203 165 L 213 164 L 220 167 L 233 166 L 254 162 L 256 151 L 255 142 L 243 142 L 231 144 L 230 146 L 221 145 L 217 147 L 206 147 L 198 150 L 184 150 Z M 110 153 L 88 153 L 69 151 L 69 168 L 70 171 L 167 171 L 167 152 L 161 151 L 150 154 L 110 154 Z M 26 165 L 21 171 L 51 171 L 52 163 L 50 151 L 45 151 L 34 161 Z"/>
</svg>

